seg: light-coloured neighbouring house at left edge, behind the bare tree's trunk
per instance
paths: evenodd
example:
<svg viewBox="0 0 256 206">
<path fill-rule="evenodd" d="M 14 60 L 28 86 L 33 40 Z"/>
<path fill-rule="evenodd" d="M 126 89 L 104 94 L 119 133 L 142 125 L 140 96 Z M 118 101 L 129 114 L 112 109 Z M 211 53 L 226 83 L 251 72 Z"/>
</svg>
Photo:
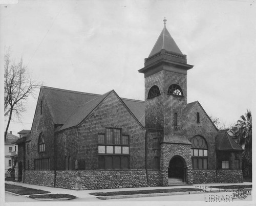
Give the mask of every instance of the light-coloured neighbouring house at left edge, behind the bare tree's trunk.
<svg viewBox="0 0 256 206">
<path fill-rule="evenodd" d="M 5 173 L 14 165 L 13 155 L 18 154 L 18 146 L 13 144 L 15 140 L 18 139 L 18 136 L 12 134 L 12 131 L 7 132 L 6 141 L 5 141 Z M 10 176 L 10 173 L 8 174 Z"/>
</svg>

